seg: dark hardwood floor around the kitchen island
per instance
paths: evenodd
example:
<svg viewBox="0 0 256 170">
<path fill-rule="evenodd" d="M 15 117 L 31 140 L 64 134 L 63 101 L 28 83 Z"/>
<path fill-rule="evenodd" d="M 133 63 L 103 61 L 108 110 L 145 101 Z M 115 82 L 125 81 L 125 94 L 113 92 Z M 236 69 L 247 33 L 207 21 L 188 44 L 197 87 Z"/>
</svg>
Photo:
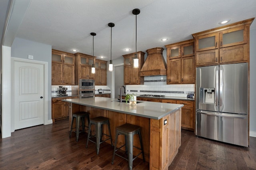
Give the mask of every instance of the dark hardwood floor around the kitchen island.
<svg viewBox="0 0 256 170">
<path fill-rule="evenodd" d="M 68 137 L 68 120 L 52 125 L 16 130 L 12 137 L 0 139 L 0 170 L 126 170 L 128 162 L 118 156 L 111 164 L 113 147 L 102 143 L 96 155 L 95 144 L 86 145 L 86 133 Z M 149 163 L 140 158 L 133 168 L 149 169 Z M 250 147 L 224 144 L 200 138 L 182 130 L 181 146 L 169 170 L 254 170 L 256 169 L 256 138 L 250 137 Z"/>
</svg>

